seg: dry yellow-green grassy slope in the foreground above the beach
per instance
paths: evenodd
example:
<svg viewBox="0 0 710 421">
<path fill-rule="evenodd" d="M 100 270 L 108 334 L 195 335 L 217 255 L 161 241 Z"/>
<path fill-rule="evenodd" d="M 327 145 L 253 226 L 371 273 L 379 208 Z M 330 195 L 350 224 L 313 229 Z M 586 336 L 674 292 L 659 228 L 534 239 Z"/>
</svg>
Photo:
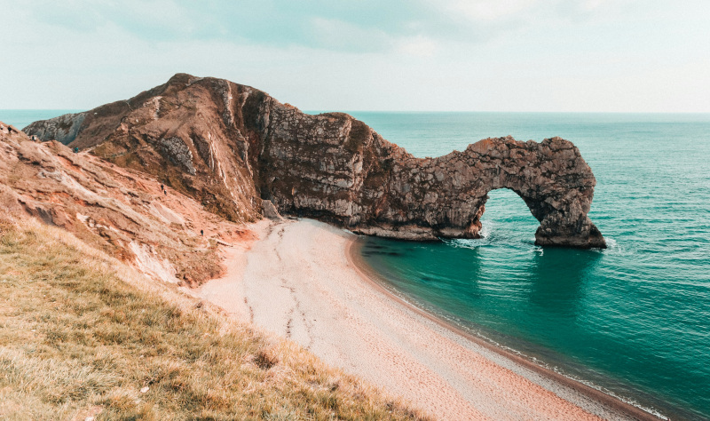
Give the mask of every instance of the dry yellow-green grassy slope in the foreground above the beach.
<svg viewBox="0 0 710 421">
<path fill-rule="evenodd" d="M 34 219 L 0 219 L 2 419 L 416 419 Z"/>
</svg>

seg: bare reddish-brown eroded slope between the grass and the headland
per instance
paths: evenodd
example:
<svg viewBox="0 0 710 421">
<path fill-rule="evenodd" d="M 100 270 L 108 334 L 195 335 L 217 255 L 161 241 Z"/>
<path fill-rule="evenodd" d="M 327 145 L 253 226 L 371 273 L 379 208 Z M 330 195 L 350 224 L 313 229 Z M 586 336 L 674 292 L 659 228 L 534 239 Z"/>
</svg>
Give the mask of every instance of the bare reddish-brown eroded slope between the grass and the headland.
<svg viewBox="0 0 710 421">
<path fill-rule="evenodd" d="M 164 282 L 196 285 L 216 277 L 224 269 L 217 243 L 250 233 L 189 196 L 172 189 L 165 195 L 160 184 L 0 123 L 0 214 L 60 226 Z"/>
</svg>

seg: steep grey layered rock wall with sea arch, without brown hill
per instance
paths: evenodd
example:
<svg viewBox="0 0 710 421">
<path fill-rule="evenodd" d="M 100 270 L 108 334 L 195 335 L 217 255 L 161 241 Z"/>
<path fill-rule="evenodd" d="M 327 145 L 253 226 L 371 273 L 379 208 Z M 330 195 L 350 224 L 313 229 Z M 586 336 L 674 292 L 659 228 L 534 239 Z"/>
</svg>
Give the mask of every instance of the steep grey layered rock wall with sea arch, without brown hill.
<svg viewBox="0 0 710 421">
<path fill-rule="evenodd" d="M 484 139 L 416 158 L 350 115 L 274 107 L 269 117 L 262 195 L 282 213 L 405 240 L 476 238 L 487 193 L 505 187 L 540 221 L 537 244 L 605 247 L 587 217 L 596 179 L 567 140 Z"/>
</svg>

